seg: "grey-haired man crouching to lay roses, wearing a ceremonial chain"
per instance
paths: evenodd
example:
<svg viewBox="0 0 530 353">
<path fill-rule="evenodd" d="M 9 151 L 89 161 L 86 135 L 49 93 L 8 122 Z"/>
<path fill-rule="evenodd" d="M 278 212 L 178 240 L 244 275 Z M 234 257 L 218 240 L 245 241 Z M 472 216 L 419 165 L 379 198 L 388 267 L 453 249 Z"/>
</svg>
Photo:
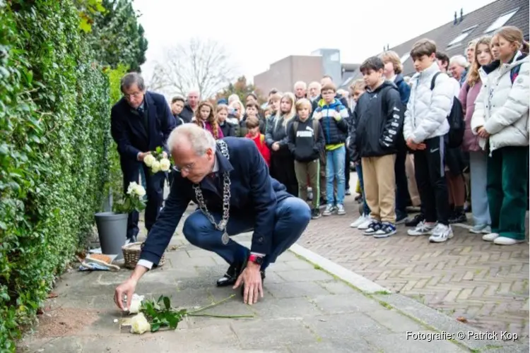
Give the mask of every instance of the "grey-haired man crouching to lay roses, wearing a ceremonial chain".
<svg viewBox="0 0 530 353">
<path fill-rule="evenodd" d="M 114 301 L 129 308 L 136 283 L 158 264 L 189 201 L 199 205 L 184 222 L 186 239 L 230 264 L 218 286 L 242 287 L 247 304 L 263 297 L 270 263 L 297 241 L 311 219 L 310 208 L 272 179 L 254 142 L 213 139 L 195 124 L 175 128 L 167 142 L 175 161 L 175 181 L 160 217 L 143 246 L 131 277 L 117 287 Z M 247 249 L 230 236 L 254 231 Z"/>
</svg>

